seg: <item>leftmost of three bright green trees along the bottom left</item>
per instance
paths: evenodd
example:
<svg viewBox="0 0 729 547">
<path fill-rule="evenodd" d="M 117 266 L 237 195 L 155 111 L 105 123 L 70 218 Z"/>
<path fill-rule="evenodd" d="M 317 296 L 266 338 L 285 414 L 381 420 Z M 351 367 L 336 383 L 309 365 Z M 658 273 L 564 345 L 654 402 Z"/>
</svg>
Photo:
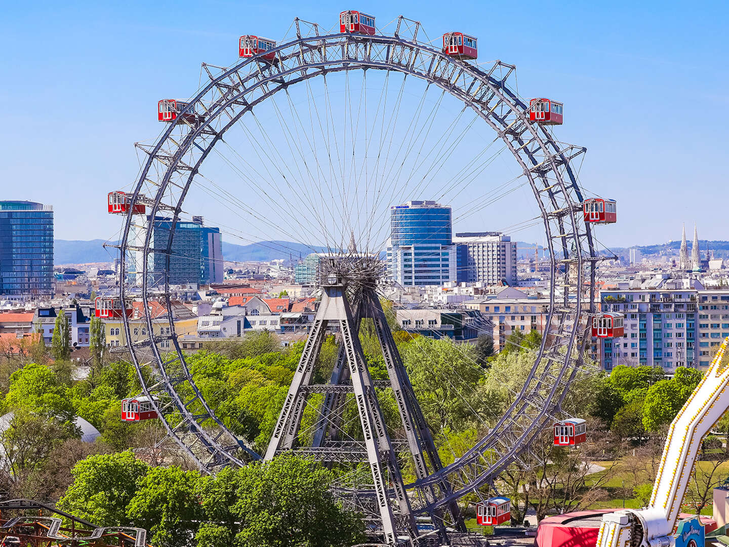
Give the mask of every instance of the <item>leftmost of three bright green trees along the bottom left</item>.
<svg viewBox="0 0 729 547">
<path fill-rule="evenodd" d="M 127 505 L 148 470 L 131 451 L 87 457 L 74 465 L 74 482 L 57 506 L 99 526 L 128 526 Z"/>
</svg>

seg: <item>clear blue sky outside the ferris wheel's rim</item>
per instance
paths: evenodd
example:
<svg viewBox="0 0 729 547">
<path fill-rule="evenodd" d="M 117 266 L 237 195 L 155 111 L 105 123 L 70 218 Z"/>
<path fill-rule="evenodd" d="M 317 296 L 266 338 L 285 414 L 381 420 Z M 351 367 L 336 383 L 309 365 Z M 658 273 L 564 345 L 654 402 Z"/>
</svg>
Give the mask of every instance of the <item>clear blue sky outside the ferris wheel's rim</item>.
<svg viewBox="0 0 729 547">
<path fill-rule="evenodd" d="M 159 133 L 159 98 L 192 95 L 201 61 L 235 63 L 241 34 L 278 39 L 295 16 L 330 28 L 347 8 L 378 26 L 402 13 L 431 38 L 462 29 L 479 38 L 479 61 L 517 66 L 522 96 L 564 101 L 555 135 L 588 148 L 582 184 L 618 201 L 604 244 L 676 239 L 694 221 L 701 238 L 729 239 L 729 2 L 712 0 L 3 0 L 0 198 L 51 203 L 57 238 L 112 237 L 106 193 L 134 182 L 133 143 Z M 515 222 L 531 215 L 521 199 L 507 205 Z"/>
</svg>

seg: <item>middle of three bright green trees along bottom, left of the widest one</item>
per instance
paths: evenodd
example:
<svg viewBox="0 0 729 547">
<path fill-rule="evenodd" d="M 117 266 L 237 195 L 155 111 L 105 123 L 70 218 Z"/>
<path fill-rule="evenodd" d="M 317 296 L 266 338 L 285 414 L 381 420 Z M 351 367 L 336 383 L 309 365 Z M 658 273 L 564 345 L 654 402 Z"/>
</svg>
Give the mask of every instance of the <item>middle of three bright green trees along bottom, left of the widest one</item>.
<svg viewBox="0 0 729 547">
<path fill-rule="evenodd" d="M 197 471 L 151 468 L 137 483 L 126 508 L 127 519 L 146 529 L 156 547 L 192 545 L 204 511 L 196 495 Z"/>
</svg>

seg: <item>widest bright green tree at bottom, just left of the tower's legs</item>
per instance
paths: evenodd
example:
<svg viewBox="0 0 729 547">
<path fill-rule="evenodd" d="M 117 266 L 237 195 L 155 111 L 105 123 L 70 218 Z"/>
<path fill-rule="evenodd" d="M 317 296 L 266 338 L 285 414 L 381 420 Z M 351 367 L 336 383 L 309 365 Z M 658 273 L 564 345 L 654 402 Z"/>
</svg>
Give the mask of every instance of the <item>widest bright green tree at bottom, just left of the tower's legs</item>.
<svg viewBox="0 0 729 547">
<path fill-rule="evenodd" d="M 200 481 L 207 519 L 198 547 L 338 547 L 362 541 L 364 524 L 335 503 L 334 475 L 286 454 Z"/>
</svg>

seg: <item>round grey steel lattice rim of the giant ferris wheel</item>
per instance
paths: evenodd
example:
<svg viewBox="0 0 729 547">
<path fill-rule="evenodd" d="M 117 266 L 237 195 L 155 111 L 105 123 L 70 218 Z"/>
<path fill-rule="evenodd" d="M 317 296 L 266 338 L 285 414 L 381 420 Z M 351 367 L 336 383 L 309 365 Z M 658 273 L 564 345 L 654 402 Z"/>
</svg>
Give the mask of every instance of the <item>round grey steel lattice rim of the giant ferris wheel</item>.
<svg viewBox="0 0 729 547">
<path fill-rule="evenodd" d="M 373 51 L 380 48 L 380 53 L 386 51 L 385 58 L 373 58 Z M 327 56 L 327 53 L 337 53 L 340 51 L 342 55 L 340 57 Z M 397 51 L 396 51 L 397 50 Z M 316 61 L 312 57 L 310 61 L 306 60 L 306 55 L 316 55 L 317 52 L 321 52 L 321 59 Z M 367 52 L 366 57 L 360 55 Z M 163 131 L 160 138 L 157 139 L 154 147 L 150 147 L 147 153 L 149 157 L 147 162 L 142 168 L 141 174 L 137 181 L 132 200 L 136 200 L 137 196 L 141 194 L 141 190 L 144 187 L 145 182 L 150 180 L 149 171 L 155 166 L 155 161 L 160 163 L 166 163 L 166 168 L 163 170 L 164 174 L 161 183 L 158 185 L 157 195 L 155 195 L 154 205 L 152 206 L 150 217 L 154 217 L 158 211 L 160 211 L 160 205 L 163 205 L 162 198 L 165 197 L 165 191 L 170 185 L 170 179 L 172 174 L 180 169 L 182 164 L 182 156 L 194 150 L 194 147 L 200 148 L 200 156 L 194 164 L 185 165 L 184 171 L 189 171 L 190 174 L 187 176 L 187 182 L 184 189 L 179 195 L 179 200 L 176 204 L 167 204 L 167 209 L 174 211 L 173 218 L 171 219 L 172 229 L 168 237 L 166 252 L 164 254 L 167 257 L 167 262 L 171 255 L 171 244 L 172 237 L 174 235 L 174 225 L 176 220 L 179 219 L 179 214 L 182 212 L 182 204 L 184 203 L 185 195 L 189 190 L 190 185 L 198 174 L 198 169 L 207 155 L 213 150 L 217 141 L 222 139 L 229 128 L 246 113 L 249 112 L 260 104 L 262 101 L 267 100 L 270 96 L 273 96 L 280 90 L 288 88 L 290 85 L 303 82 L 305 80 L 321 77 L 325 74 L 330 74 L 338 71 L 354 71 L 354 70 L 367 70 L 367 69 L 379 69 L 386 71 L 396 71 L 403 74 L 409 74 L 418 79 L 423 79 L 429 84 L 437 85 L 438 87 L 445 90 L 456 98 L 459 98 L 467 106 L 474 110 L 496 133 L 502 138 L 508 149 L 515 156 L 515 159 L 523 168 L 524 175 L 529 179 L 529 184 L 534 192 L 535 198 L 539 203 L 539 209 L 542 217 L 542 221 L 545 227 L 545 236 L 547 241 L 547 248 L 549 249 L 550 256 L 550 306 L 547 314 L 547 322 L 545 325 L 545 335 L 542 338 L 542 344 L 539 347 L 537 358 L 535 359 L 534 365 L 531 369 L 529 379 L 527 379 L 523 389 L 519 393 L 518 397 L 512 403 L 510 408 L 504 413 L 502 419 L 496 424 L 491 432 L 485 437 L 481 438 L 476 445 L 470 449 L 464 457 L 460 458 L 457 462 L 443 468 L 439 473 L 434 473 L 428 478 L 425 483 L 411 484 L 411 488 L 421 488 L 427 483 L 440 480 L 444 474 L 453 475 L 453 473 L 462 473 L 467 466 L 477 468 L 475 461 L 483 455 L 483 451 L 488 449 L 489 446 L 493 446 L 496 441 L 499 441 L 498 435 L 501 430 L 499 427 L 507 424 L 510 419 L 514 418 L 515 413 L 522 412 L 523 408 L 529 404 L 526 397 L 529 395 L 529 387 L 531 381 L 537 380 L 539 384 L 548 384 L 549 378 L 542 375 L 542 378 L 538 379 L 539 366 L 543 360 L 547 360 L 547 365 L 551 362 L 557 362 L 557 359 L 561 359 L 561 368 L 557 376 L 554 378 L 553 386 L 549 390 L 549 398 L 547 399 L 548 404 L 542 408 L 542 412 L 537 416 L 537 419 L 533 419 L 529 427 L 525 427 L 523 435 L 518 438 L 512 438 L 511 447 L 504 449 L 503 456 L 498 462 L 485 470 L 481 470 L 480 473 L 472 472 L 471 481 L 465 481 L 466 484 L 462 484 L 460 488 L 454 489 L 453 497 L 460 497 L 467 492 L 474 491 L 478 485 L 485 484 L 489 478 L 493 478 L 497 470 L 504 468 L 510 462 L 514 461 L 521 453 L 521 443 L 524 446 L 528 446 L 531 442 L 531 438 L 542 429 L 545 419 L 549 419 L 555 412 L 559 411 L 561 401 L 564 398 L 566 387 L 569 387 L 569 383 L 574 378 L 574 373 L 577 371 L 580 362 L 582 360 L 582 352 L 585 349 L 585 333 L 580 333 L 581 325 L 585 322 L 586 317 L 593 311 L 593 293 L 594 293 L 594 276 L 595 276 L 595 260 L 596 252 L 593 247 L 592 236 L 590 232 L 590 225 L 582 219 L 581 214 L 577 214 L 577 206 L 581 206 L 582 193 L 579 185 L 577 184 L 577 178 L 574 174 L 574 170 L 570 165 L 570 152 L 577 150 L 577 154 L 584 152 L 584 149 L 579 147 L 570 147 L 564 149 L 561 147 L 561 143 L 555 141 L 550 133 L 542 126 L 535 123 L 529 122 L 528 106 L 527 104 L 518 97 L 507 85 L 505 81 L 509 74 L 515 67 L 500 63 L 496 61 L 494 67 L 490 72 L 483 71 L 478 66 L 464 63 L 456 58 L 446 55 L 440 50 L 435 49 L 429 44 L 422 44 L 417 42 L 415 39 L 406 39 L 402 36 L 389 36 L 386 34 L 376 34 L 374 36 L 367 36 L 361 34 L 350 34 L 350 33 L 335 33 L 319 35 L 315 34 L 312 36 L 301 36 L 298 35 L 295 39 L 290 40 L 284 44 L 277 45 L 273 49 L 273 53 L 277 55 L 276 59 L 278 63 L 268 63 L 262 61 L 258 57 L 245 58 L 235 66 L 229 69 L 220 71 L 219 74 L 214 76 L 206 66 L 206 71 L 210 77 L 210 82 L 203 86 L 198 92 L 195 98 L 190 99 L 190 104 L 184 112 L 198 112 L 195 108 L 198 105 L 201 107 L 199 112 L 205 112 L 205 118 L 203 123 L 190 125 L 190 132 L 185 136 L 184 141 L 176 143 L 174 146 L 165 148 L 165 144 L 171 139 L 171 135 L 174 132 L 176 124 L 169 124 L 168 128 Z M 402 60 L 408 58 L 407 63 L 402 63 Z M 423 69 L 418 64 L 418 57 L 421 59 L 428 58 L 430 65 L 427 69 Z M 297 63 L 298 61 L 298 63 Z M 287 65 L 287 63 L 289 63 Z M 434 69 L 434 63 L 437 69 Z M 421 63 L 422 64 L 422 63 Z M 510 67 L 510 71 L 506 77 L 498 79 L 494 75 L 494 69 L 496 67 Z M 247 74 L 244 72 L 246 68 L 254 68 L 257 70 L 250 70 Z M 299 76 L 295 76 L 299 74 Z M 220 98 L 217 104 L 207 105 L 203 103 L 203 98 L 208 94 L 215 93 L 214 90 L 220 90 L 221 85 L 227 85 L 230 88 L 230 84 L 225 83 L 226 80 L 233 80 L 233 76 L 238 77 L 240 82 L 240 90 L 237 93 L 225 93 L 220 92 Z M 446 78 L 445 76 L 448 76 Z M 286 79 L 289 78 L 289 79 Z M 464 82 L 461 85 L 460 82 Z M 471 82 L 470 87 L 466 88 L 466 83 Z M 249 85 L 250 84 L 250 85 Z M 485 90 L 480 99 L 473 94 L 473 86 L 477 84 L 483 86 Z M 249 85 L 249 87 L 246 87 Z M 268 88 L 265 93 L 261 93 L 257 96 L 254 101 L 246 99 L 246 95 L 252 95 L 260 88 Z M 480 91 L 479 91 L 480 93 Z M 507 106 L 506 117 L 499 117 L 496 113 L 496 107 L 494 106 L 490 112 L 483 111 L 483 99 L 489 94 L 490 98 L 486 101 L 486 106 L 494 98 L 497 99 L 499 104 Z M 241 101 L 243 99 L 243 101 Z M 479 101 L 481 104 L 479 104 Z M 236 110 L 236 107 L 238 109 Z M 230 112 L 234 112 L 235 115 L 231 116 Z M 502 110 L 503 112 L 503 110 Z M 211 124 L 214 121 L 219 120 L 224 114 L 230 117 L 230 121 L 223 125 L 222 130 L 219 128 L 214 131 L 214 136 L 208 141 L 203 141 L 206 146 L 202 147 L 198 144 L 197 139 L 201 135 L 206 134 L 209 131 Z M 513 115 L 513 119 L 508 118 Z M 211 133 L 207 133 L 208 136 Z M 526 138 L 524 138 L 526 136 Z M 518 147 L 515 146 L 518 144 Z M 530 150 L 529 146 L 536 145 Z M 160 158 L 164 156 L 164 161 Z M 562 170 L 561 170 L 562 168 Z M 162 171 L 162 170 L 160 170 Z M 553 176 L 553 179 L 549 179 L 549 176 Z M 550 184 L 546 184 L 546 182 Z M 545 183 L 544 187 L 539 187 L 539 182 Z M 574 194 L 574 197 L 573 197 Z M 546 197 L 546 199 L 543 199 Z M 120 268 L 120 295 L 122 305 L 124 305 L 125 297 L 125 255 L 133 245 L 130 244 L 130 228 L 132 226 L 132 213 L 127 214 L 124 231 L 122 236 L 122 243 L 120 245 L 121 262 L 122 267 Z M 150 225 L 147 225 L 147 233 L 144 239 L 144 257 L 146 259 L 149 252 L 152 252 L 150 247 L 151 231 Z M 552 231 L 553 228 L 558 229 L 560 236 L 554 236 Z M 572 232 L 569 230 L 572 229 Z M 571 234 L 567 237 L 565 234 Z M 555 244 L 555 241 L 557 244 Z M 570 246 L 569 244 L 572 244 Z M 556 248 L 555 248 L 556 247 Z M 559 249 L 561 247 L 561 249 Z M 584 247 L 587 247 L 585 249 Z M 154 249 L 155 252 L 160 252 L 160 248 Z M 564 260 L 558 260 L 558 256 L 564 256 Z M 147 286 L 148 278 L 148 265 L 147 260 L 144 260 L 144 268 L 142 271 L 142 291 L 141 298 L 144 303 L 144 313 L 147 320 L 147 326 L 149 332 L 153 333 L 152 327 L 152 316 L 149 313 L 149 299 L 157 298 L 158 294 L 152 294 L 149 287 Z M 564 265 L 565 271 L 569 268 L 577 268 L 577 281 L 572 282 L 569 286 L 577 287 L 572 293 L 572 297 L 569 298 L 567 285 L 565 285 L 565 295 L 558 302 L 555 297 L 555 282 L 558 276 L 561 276 L 560 265 Z M 587 272 L 585 272 L 585 269 Z M 587 274 L 587 275 L 585 275 Z M 564 274 L 566 281 L 569 282 L 569 275 Z M 586 278 L 586 279 L 585 279 Z M 165 287 L 163 295 L 165 297 L 168 309 L 170 309 L 171 301 L 169 296 L 169 283 L 168 278 L 165 276 Z M 587 300 L 587 301 L 585 301 Z M 572 317 L 569 319 L 569 317 Z M 556 319 L 556 323 L 555 322 Z M 149 395 L 148 386 L 145 384 L 144 374 L 142 368 L 144 366 L 155 366 L 159 371 L 165 374 L 165 363 L 163 362 L 163 356 L 157 348 L 156 341 L 152 338 L 149 342 L 149 348 L 152 350 L 153 358 L 156 363 L 144 363 L 137 355 L 139 345 L 135 346 L 131 342 L 129 332 L 129 319 L 127 314 L 122 314 L 122 321 L 125 327 L 126 340 L 128 341 L 128 351 L 131 354 L 134 365 L 138 371 L 139 379 L 141 380 L 142 387 L 145 395 Z M 174 319 L 172 314 L 168 314 L 168 321 L 174 332 Z M 571 327 L 569 325 L 572 325 Z M 566 338 L 566 344 L 561 343 L 558 348 L 564 348 L 564 354 L 558 356 L 558 352 L 555 352 L 556 346 L 547 347 L 547 339 L 550 335 L 557 334 L 561 336 L 561 340 Z M 581 339 L 580 339 L 581 338 Z M 176 362 L 182 365 L 184 373 L 187 376 L 188 381 L 192 384 L 192 377 L 187 370 L 187 364 L 184 359 L 184 353 L 180 348 L 176 336 L 171 337 L 171 341 L 174 344 L 176 352 Z M 575 344 L 577 342 L 577 344 Z M 577 351 L 575 356 L 574 352 Z M 194 389 L 194 384 L 192 384 Z M 157 386 L 159 387 L 159 386 Z M 165 386 L 165 389 L 171 389 L 173 393 L 171 396 L 173 399 L 176 397 L 174 389 L 171 386 Z M 206 411 L 208 411 L 210 418 L 217 424 L 217 427 L 222 428 L 223 432 L 229 434 L 233 438 L 232 432 L 228 431 L 222 422 L 220 422 L 214 415 L 214 411 L 207 406 L 203 397 L 200 395 L 200 400 L 205 404 Z M 178 405 L 179 406 L 179 405 Z M 178 410 L 180 410 L 178 408 Z M 184 414 L 184 413 L 183 413 Z M 214 452 L 214 465 L 208 462 L 204 462 L 200 459 L 198 454 L 193 454 L 190 447 L 185 443 L 179 431 L 175 431 L 174 427 L 167 424 L 165 420 L 165 427 L 167 427 L 170 435 L 177 441 L 179 446 L 185 449 L 200 465 L 200 468 L 210 471 L 217 465 L 243 465 L 241 459 L 235 456 L 233 449 L 230 447 L 219 446 L 217 438 L 214 435 L 207 435 L 207 438 L 203 439 L 203 446 L 208 446 L 209 450 Z M 193 435 L 206 435 L 203 427 L 199 427 L 197 432 Z M 238 441 L 238 447 L 242 448 L 249 454 L 249 457 L 256 458 L 258 454 L 249 449 L 247 446 L 243 446 L 241 441 Z M 445 505 L 448 503 L 447 500 L 438 500 L 436 505 Z"/>
</svg>

